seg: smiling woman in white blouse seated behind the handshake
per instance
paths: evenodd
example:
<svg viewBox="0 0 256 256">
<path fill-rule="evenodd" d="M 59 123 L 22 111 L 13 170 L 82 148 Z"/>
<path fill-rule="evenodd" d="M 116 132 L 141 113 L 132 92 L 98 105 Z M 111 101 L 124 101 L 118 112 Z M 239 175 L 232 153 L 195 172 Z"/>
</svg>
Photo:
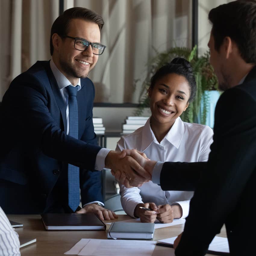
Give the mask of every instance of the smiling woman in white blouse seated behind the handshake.
<svg viewBox="0 0 256 256">
<path fill-rule="evenodd" d="M 161 67 L 151 78 L 148 89 L 151 117 L 145 126 L 121 137 L 116 150 L 133 149 L 144 152 L 156 161 L 207 161 L 213 131 L 209 126 L 186 123 L 180 119 L 195 97 L 196 83 L 190 63 L 175 58 Z M 170 223 L 189 213 L 192 192 L 163 191 L 157 184 L 144 183 L 139 188 L 120 186 L 124 210 L 142 222 Z M 151 208 L 153 211 L 139 207 Z"/>
</svg>

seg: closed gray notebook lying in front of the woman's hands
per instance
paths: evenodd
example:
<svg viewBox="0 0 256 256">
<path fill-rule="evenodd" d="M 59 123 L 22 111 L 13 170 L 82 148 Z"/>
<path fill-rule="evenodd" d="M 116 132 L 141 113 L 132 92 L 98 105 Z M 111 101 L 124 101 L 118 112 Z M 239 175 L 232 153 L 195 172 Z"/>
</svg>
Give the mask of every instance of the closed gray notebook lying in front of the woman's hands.
<svg viewBox="0 0 256 256">
<path fill-rule="evenodd" d="M 108 230 L 109 239 L 153 239 L 155 223 L 113 222 Z"/>
</svg>

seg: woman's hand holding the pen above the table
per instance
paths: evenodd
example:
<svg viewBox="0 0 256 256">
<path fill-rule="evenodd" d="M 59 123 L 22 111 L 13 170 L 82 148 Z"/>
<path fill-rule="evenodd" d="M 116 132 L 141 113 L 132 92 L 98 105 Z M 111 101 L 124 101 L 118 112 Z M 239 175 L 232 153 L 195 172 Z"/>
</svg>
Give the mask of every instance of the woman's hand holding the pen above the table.
<svg viewBox="0 0 256 256">
<path fill-rule="evenodd" d="M 143 210 L 143 209 L 140 209 L 139 206 L 150 208 L 154 211 Z M 137 204 L 134 209 L 134 216 L 140 217 L 141 222 L 154 223 L 157 217 L 157 207 L 154 203 Z"/>
</svg>

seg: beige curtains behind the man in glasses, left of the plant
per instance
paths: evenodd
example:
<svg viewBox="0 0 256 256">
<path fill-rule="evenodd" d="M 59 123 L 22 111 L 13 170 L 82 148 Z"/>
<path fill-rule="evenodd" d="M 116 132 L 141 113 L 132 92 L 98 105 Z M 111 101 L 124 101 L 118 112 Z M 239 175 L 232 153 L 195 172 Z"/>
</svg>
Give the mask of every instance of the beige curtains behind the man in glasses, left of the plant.
<svg viewBox="0 0 256 256">
<path fill-rule="evenodd" d="M 107 45 L 89 77 L 95 102 L 138 102 L 146 63 L 172 46 L 191 47 L 192 0 L 64 0 L 102 15 Z M 59 0 L 0 0 L 0 101 L 10 81 L 37 60 L 48 60 L 49 36 Z M 137 83 L 135 83 L 137 81 Z"/>
</svg>

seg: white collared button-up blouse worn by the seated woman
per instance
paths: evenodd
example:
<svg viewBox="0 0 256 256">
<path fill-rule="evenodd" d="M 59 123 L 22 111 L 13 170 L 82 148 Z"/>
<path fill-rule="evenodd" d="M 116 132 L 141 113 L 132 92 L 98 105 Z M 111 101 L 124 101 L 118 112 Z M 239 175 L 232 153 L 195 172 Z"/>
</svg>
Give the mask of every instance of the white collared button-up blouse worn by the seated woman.
<svg viewBox="0 0 256 256">
<path fill-rule="evenodd" d="M 208 160 L 212 137 L 213 130 L 209 126 L 185 123 L 178 117 L 159 143 L 151 130 L 149 118 L 145 126 L 122 136 L 116 150 L 136 149 L 144 152 L 149 159 L 161 162 L 202 162 Z M 132 217 L 137 204 L 153 202 L 156 205 L 179 204 L 183 211 L 182 218 L 185 218 L 189 214 L 193 192 L 163 191 L 159 185 L 149 181 L 140 188 L 127 189 L 120 185 L 120 195 L 124 211 Z"/>
</svg>

